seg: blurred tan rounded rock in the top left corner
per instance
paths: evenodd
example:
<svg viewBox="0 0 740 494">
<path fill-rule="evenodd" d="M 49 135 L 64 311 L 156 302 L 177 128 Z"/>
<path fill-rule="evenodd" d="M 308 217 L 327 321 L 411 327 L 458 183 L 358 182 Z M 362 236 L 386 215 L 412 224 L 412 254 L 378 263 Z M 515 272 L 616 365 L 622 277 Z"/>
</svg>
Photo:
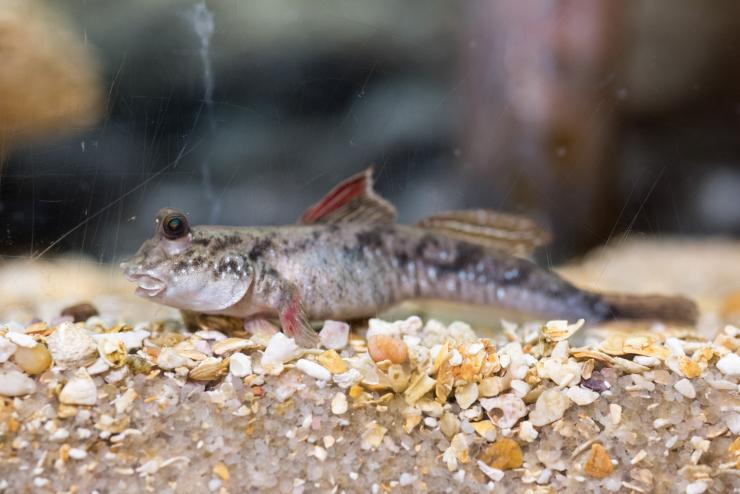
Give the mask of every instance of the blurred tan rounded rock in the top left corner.
<svg viewBox="0 0 740 494">
<path fill-rule="evenodd" d="M 83 33 L 35 0 L 0 2 L 0 159 L 18 142 L 79 132 L 101 113 Z"/>
</svg>

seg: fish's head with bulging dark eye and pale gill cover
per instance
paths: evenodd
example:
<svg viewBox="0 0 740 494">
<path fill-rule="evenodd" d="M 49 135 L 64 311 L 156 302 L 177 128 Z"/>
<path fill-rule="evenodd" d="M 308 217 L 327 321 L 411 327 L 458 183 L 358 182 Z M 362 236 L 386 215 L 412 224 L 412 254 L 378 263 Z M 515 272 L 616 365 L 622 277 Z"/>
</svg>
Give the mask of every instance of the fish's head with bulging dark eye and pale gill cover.
<svg viewBox="0 0 740 494">
<path fill-rule="evenodd" d="M 121 263 L 136 294 L 178 309 L 217 312 L 239 302 L 252 282 L 246 259 L 233 252 L 207 249 L 209 231 L 191 227 L 187 217 L 162 209 L 154 236 Z"/>
</svg>

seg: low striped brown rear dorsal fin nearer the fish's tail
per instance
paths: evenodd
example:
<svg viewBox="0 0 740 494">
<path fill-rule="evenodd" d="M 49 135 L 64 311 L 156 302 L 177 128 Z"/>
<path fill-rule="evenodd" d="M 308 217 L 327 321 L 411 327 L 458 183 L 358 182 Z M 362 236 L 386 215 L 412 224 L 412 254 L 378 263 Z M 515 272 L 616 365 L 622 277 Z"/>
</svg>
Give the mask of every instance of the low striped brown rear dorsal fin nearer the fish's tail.
<svg viewBox="0 0 740 494">
<path fill-rule="evenodd" d="M 448 211 L 424 218 L 417 226 L 467 242 L 526 256 L 550 241 L 550 233 L 524 216 L 487 209 Z"/>
</svg>

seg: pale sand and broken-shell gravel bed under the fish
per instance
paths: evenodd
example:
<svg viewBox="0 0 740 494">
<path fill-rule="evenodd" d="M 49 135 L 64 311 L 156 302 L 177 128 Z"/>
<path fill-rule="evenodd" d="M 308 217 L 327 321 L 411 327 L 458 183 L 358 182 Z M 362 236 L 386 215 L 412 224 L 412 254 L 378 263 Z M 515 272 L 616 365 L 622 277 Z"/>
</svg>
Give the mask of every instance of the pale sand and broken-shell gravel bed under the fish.
<svg viewBox="0 0 740 494">
<path fill-rule="evenodd" d="M 601 289 L 695 296 L 699 333 L 531 322 L 480 338 L 426 307 L 367 331 L 328 324 L 312 350 L 269 328 L 185 331 L 81 260 L 8 264 L 0 489 L 732 492 L 737 247 L 630 243 L 563 269 Z M 82 300 L 101 315 L 58 317 Z"/>
</svg>

